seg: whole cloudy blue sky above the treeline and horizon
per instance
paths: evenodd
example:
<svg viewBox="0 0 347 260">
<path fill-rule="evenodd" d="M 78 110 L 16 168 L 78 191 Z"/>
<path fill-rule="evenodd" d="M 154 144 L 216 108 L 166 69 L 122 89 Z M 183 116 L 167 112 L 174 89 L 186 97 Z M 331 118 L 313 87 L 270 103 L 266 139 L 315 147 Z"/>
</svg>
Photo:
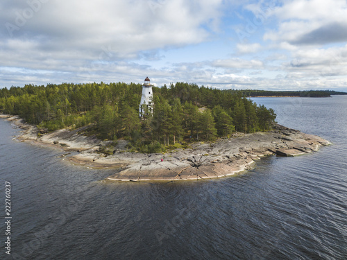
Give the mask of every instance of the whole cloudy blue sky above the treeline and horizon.
<svg viewBox="0 0 347 260">
<path fill-rule="evenodd" d="M 347 92 L 346 0 L 1 0 L 0 88 L 176 82 Z"/>
</svg>

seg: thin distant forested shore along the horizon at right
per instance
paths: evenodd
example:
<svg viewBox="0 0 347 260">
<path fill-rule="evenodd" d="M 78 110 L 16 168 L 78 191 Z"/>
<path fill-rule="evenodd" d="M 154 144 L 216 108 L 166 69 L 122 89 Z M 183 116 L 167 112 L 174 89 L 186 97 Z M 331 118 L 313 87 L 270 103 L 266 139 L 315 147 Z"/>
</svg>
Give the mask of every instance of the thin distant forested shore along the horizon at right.
<svg viewBox="0 0 347 260">
<path fill-rule="evenodd" d="M 273 91 L 273 90 L 240 90 L 246 97 L 257 96 L 300 96 L 302 98 L 323 98 L 331 95 L 347 95 L 346 92 L 334 90 L 305 90 L 305 91 Z"/>
</svg>

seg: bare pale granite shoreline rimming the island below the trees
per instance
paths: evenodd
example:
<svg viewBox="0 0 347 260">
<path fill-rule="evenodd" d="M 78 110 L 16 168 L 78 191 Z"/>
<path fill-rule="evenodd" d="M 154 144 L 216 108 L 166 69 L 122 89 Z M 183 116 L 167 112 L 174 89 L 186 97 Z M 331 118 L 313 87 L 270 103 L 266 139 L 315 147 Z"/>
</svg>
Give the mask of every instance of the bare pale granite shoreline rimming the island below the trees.
<svg viewBox="0 0 347 260">
<path fill-rule="evenodd" d="M 18 116 L 0 115 L 21 128 L 19 141 L 31 141 L 78 151 L 67 157 L 71 163 L 97 168 L 117 168 L 117 173 L 107 177 L 110 181 L 174 181 L 200 180 L 235 175 L 251 168 L 251 164 L 266 155 L 294 156 L 312 153 L 330 142 L 315 135 L 275 125 L 275 130 L 253 134 L 237 133 L 230 139 L 214 143 L 198 142 L 191 148 L 177 149 L 170 153 L 128 153 L 126 141 L 119 140 L 113 155 L 96 153 L 100 146 L 109 144 L 96 137 L 86 137 L 83 130 L 56 130 L 40 134 L 35 125 L 24 123 Z"/>
</svg>

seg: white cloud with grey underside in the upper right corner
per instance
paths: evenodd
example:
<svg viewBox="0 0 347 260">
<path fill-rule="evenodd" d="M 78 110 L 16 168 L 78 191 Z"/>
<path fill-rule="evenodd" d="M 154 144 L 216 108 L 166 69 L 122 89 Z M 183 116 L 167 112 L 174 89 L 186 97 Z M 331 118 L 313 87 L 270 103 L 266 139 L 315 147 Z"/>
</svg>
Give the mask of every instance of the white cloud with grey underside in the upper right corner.
<svg viewBox="0 0 347 260">
<path fill-rule="evenodd" d="M 278 30 L 264 40 L 321 45 L 347 41 L 347 2 L 344 0 L 293 0 L 275 8 Z"/>
</svg>

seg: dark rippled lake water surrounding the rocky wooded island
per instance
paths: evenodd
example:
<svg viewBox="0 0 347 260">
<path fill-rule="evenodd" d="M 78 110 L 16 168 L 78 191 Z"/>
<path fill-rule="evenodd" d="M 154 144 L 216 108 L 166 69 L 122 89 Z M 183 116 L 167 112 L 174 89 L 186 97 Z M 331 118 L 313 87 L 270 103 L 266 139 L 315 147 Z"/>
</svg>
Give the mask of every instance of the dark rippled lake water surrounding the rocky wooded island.
<svg viewBox="0 0 347 260">
<path fill-rule="evenodd" d="M 347 96 L 254 100 L 333 145 L 219 180 L 103 182 L 112 170 L 13 141 L 0 120 L 1 216 L 12 185 L 12 254 L 0 258 L 347 259 Z"/>
</svg>

